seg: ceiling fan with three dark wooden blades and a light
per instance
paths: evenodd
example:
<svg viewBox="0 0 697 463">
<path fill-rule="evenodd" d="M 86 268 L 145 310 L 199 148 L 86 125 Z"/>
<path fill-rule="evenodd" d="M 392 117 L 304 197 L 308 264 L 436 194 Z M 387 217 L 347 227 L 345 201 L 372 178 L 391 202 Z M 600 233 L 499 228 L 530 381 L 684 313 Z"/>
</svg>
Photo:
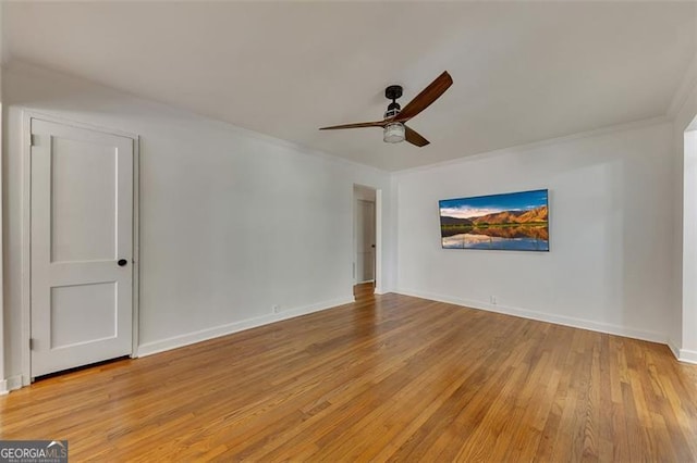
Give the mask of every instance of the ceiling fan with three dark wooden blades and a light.
<svg viewBox="0 0 697 463">
<path fill-rule="evenodd" d="M 417 147 L 425 147 L 429 141 L 419 135 L 416 130 L 404 125 L 408 120 L 431 105 L 441 95 L 453 85 L 453 78 L 443 71 L 436 80 L 430 83 L 428 87 L 421 90 L 404 109 L 396 102 L 402 96 L 402 87 L 391 85 L 384 89 L 384 96 L 392 102 L 388 105 L 382 121 L 359 122 L 355 124 L 332 125 L 330 127 L 321 127 L 320 130 L 334 130 L 338 128 L 360 128 L 360 127 L 382 127 L 382 139 L 388 143 L 399 143 L 400 141 L 408 141 Z"/>
</svg>

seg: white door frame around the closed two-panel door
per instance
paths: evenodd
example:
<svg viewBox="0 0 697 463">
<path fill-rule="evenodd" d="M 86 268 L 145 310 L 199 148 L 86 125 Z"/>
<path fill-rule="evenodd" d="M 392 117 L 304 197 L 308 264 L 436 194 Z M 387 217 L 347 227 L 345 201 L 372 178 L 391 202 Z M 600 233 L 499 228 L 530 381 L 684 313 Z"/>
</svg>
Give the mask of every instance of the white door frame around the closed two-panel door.
<svg viewBox="0 0 697 463">
<path fill-rule="evenodd" d="M 140 286 L 140 137 L 113 128 L 36 112 L 22 110 L 22 386 L 28 386 L 32 377 L 32 120 L 41 120 L 56 124 L 70 125 L 86 130 L 130 138 L 133 141 L 133 342 L 131 358 L 138 356 L 138 321 L 139 321 L 139 286 Z"/>
</svg>

